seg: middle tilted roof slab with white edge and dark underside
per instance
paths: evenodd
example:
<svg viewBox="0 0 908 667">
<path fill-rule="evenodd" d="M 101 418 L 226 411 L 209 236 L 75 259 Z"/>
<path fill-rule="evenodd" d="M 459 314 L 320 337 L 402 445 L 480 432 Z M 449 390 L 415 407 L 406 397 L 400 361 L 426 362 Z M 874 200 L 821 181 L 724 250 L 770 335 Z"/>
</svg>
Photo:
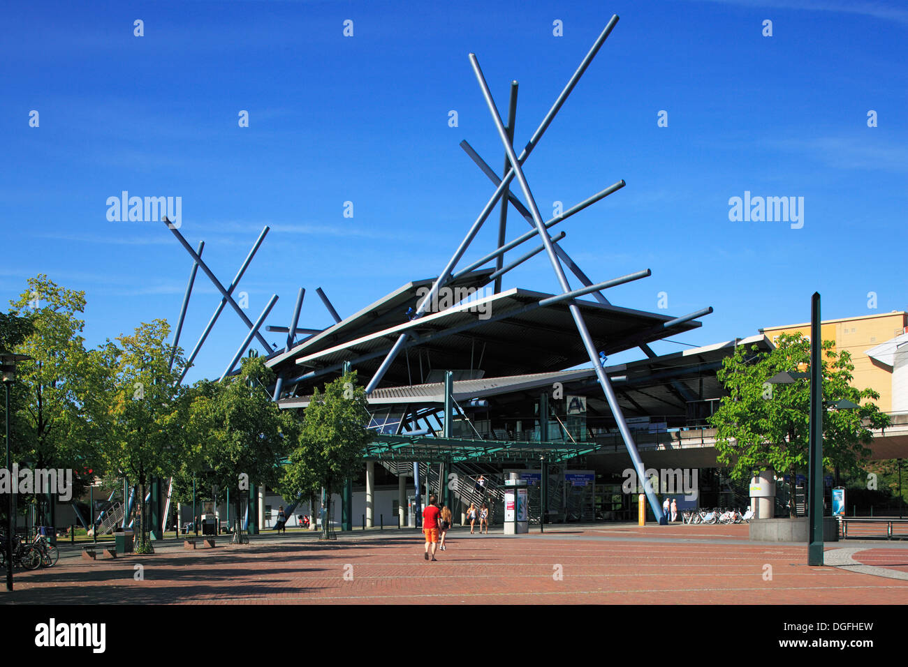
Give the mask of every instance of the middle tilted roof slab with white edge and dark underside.
<svg viewBox="0 0 908 667">
<path fill-rule="evenodd" d="M 321 334 L 320 344 L 307 341 L 280 359 L 273 359 L 271 365 L 281 359 L 286 364 L 292 358 L 297 365 L 295 379 L 309 386 L 329 370 L 340 368 L 344 361 L 350 361 L 360 376 L 370 377 L 394 339 L 400 333 L 410 332 L 408 347 L 417 349 L 395 360 L 386 376 L 388 384 L 409 385 L 414 379 L 419 381 L 420 363 L 423 375 L 430 368 L 481 368 L 486 376 L 495 377 L 576 366 L 588 356 L 577 336 L 568 309 L 570 302 L 538 306 L 541 299 L 550 296 L 553 295 L 508 289 L 347 339 L 332 347 L 324 344 L 325 336 Z M 413 299 L 415 302 L 415 292 Z M 398 303 L 400 309 L 408 305 L 406 299 Z M 575 299 L 575 303 L 587 320 L 594 344 L 609 353 L 662 338 L 666 335 L 662 325 L 672 319 L 595 301 Z M 699 326 L 699 322 L 688 321 L 679 324 L 673 332 Z"/>
</svg>

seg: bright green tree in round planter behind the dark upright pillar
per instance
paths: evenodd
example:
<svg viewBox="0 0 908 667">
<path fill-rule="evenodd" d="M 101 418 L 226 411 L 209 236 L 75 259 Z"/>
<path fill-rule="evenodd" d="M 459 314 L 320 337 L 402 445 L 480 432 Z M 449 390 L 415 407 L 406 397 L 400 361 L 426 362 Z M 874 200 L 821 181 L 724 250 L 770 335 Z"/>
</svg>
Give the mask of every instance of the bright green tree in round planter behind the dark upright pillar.
<svg viewBox="0 0 908 667">
<path fill-rule="evenodd" d="M 888 425 L 889 417 L 872 402 L 861 403 L 862 399 L 877 399 L 879 394 L 871 388 L 851 386 L 854 364 L 847 350 L 836 353 L 834 342 L 826 340 L 823 357 L 824 404 L 831 406 L 845 399 L 860 405 L 824 412 L 823 465 L 851 473 L 870 455 L 870 429 Z M 729 396 L 722 399 L 710 421 L 716 427 L 718 461 L 731 466 L 733 479 L 771 467 L 789 475 L 791 497 L 795 497 L 797 471 L 809 462 L 810 383 L 795 380 L 789 385 L 769 385 L 766 380 L 809 363 L 810 341 L 800 332 L 782 334 L 769 352 L 741 346 L 723 360 L 717 377 Z M 791 515 L 795 516 L 794 503 Z"/>
</svg>

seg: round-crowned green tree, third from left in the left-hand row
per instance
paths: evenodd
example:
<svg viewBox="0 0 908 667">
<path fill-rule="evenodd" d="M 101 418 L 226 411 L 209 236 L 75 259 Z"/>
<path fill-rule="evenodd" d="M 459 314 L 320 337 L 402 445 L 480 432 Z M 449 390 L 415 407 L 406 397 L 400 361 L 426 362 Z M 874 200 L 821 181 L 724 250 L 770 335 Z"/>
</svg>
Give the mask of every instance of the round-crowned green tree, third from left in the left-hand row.
<svg viewBox="0 0 908 667">
<path fill-rule="evenodd" d="M 252 485 L 277 484 L 299 431 L 291 411 L 281 410 L 263 388 L 272 376 L 264 359 L 245 358 L 235 376 L 199 383 L 189 411 L 187 432 L 200 446 L 200 472 L 209 485 L 232 491 L 238 521 Z"/>
</svg>

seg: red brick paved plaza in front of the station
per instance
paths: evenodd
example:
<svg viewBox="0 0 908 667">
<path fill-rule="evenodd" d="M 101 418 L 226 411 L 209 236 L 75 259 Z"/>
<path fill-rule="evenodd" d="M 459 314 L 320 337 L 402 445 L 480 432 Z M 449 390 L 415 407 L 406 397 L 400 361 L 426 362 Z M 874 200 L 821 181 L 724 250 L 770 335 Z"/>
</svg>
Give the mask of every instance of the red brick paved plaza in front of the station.
<svg viewBox="0 0 908 667">
<path fill-rule="evenodd" d="M 15 591 L 4 592 L 3 600 L 908 603 L 908 544 L 827 544 L 827 563 L 835 552 L 847 552 L 849 564 L 808 567 L 805 546 L 750 543 L 746 525 L 552 526 L 545 535 L 519 537 L 500 530 L 471 536 L 456 529 L 449 534 L 449 549 L 431 563 L 423 560 L 421 535 L 412 530 L 338 535 L 332 543 L 311 534 L 267 535 L 249 545 L 197 551 L 171 540 L 158 543 L 150 556 L 98 561 L 83 560 L 77 549 L 64 551 L 52 569 L 18 572 Z M 143 565 L 143 580 L 133 576 L 136 564 Z M 859 564 L 876 569 L 855 572 L 863 567 Z"/>
</svg>

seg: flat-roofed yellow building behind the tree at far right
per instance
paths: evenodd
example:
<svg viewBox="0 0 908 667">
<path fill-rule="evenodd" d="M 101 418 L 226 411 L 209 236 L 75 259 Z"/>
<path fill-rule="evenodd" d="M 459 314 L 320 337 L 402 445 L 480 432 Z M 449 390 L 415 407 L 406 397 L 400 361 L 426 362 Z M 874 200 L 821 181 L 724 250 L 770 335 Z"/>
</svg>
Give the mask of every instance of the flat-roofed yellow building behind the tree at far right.
<svg viewBox="0 0 908 667">
<path fill-rule="evenodd" d="M 834 340 L 835 350 L 848 350 L 854 363 L 854 387 L 872 387 L 880 393 L 877 407 L 882 412 L 893 411 L 893 368 L 868 357 L 866 352 L 908 332 L 908 312 L 893 310 L 888 313 L 863 315 L 856 318 L 826 319 L 820 323 L 824 340 Z M 810 338 L 810 323 L 791 324 L 785 327 L 759 329 L 775 342 L 779 334 L 800 331 Z"/>
</svg>

